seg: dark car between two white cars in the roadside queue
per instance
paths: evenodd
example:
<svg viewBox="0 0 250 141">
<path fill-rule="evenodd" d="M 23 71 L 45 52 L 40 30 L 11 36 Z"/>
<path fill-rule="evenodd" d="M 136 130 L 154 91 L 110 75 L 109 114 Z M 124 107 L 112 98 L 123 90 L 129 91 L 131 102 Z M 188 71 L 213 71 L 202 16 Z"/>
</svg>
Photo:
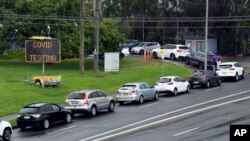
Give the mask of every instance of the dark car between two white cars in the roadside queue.
<svg viewBox="0 0 250 141">
<path fill-rule="evenodd" d="M 205 86 L 209 88 L 211 85 L 221 85 L 220 77 L 211 70 L 197 70 L 194 71 L 189 80 L 191 88 L 196 85 Z"/>
</svg>

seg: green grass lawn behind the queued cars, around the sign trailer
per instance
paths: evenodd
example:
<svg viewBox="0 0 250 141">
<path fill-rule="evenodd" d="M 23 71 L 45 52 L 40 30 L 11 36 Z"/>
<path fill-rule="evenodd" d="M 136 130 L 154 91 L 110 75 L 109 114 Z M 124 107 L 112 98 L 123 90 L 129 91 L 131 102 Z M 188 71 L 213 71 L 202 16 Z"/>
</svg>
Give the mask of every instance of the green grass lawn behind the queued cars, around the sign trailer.
<svg viewBox="0 0 250 141">
<path fill-rule="evenodd" d="M 116 93 L 117 89 L 127 82 L 146 81 L 153 85 L 162 75 L 161 62 L 144 62 L 142 58 L 123 59 L 120 63 L 120 71 L 117 73 L 99 71 L 97 76 L 93 73 L 92 66 L 92 60 L 86 60 L 86 72 L 81 75 L 77 60 L 46 64 L 46 73 L 61 75 L 64 82 L 59 87 L 40 88 L 30 83 L 22 83 L 22 78 L 23 76 L 32 77 L 41 74 L 41 64 L 0 61 L 0 117 L 17 113 L 22 106 L 32 102 L 63 103 L 70 92 L 80 89 L 101 89 L 112 94 Z M 165 75 L 187 77 L 190 76 L 192 70 L 164 64 L 164 72 Z"/>
</svg>

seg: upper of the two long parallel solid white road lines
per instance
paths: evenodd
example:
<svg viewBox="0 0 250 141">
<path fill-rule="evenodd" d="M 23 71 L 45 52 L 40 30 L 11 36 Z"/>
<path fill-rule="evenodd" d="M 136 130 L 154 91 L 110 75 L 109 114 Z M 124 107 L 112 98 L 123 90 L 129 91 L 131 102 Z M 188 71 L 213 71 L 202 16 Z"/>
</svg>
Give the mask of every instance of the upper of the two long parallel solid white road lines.
<svg viewBox="0 0 250 141">
<path fill-rule="evenodd" d="M 220 97 L 220 98 L 217 98 L 217 99 L 214 99 L 214 100 L 210 100 L 210 101 L 198 103 L 198 104 L 195 104 L 195 105 L 191 105 L 191 106 L 188 106 L 188 107 L 185 107 L 185 108 L 181 108 L 181 109 L 174 110 L 174 111 L 171 111 L 171 112 L 168 112 L 168 113 L 164 113 L 164 114 L 161 114 L 161 115 L 158 115 L 158 116 L 154 116 L 154 117 L 151 117 L 151 118 L 148 118 L 148 119 L 145 119 L 145 120 L 141 120 L 141 121 L 129 124 L 129 125 L 125 125 L 123 127 L 116 128 L 114 130 L 110 130 L 110 131 L 107 131 L 107 132 L 104 132 L 104 133 L 101 133 L 101 134 L 98 134 L 98 135 L 95 135 L 95 136 L 91 136 L 91 137 L 82 139 L 80 141 L 87 141 L 87 140 L 90 140 L 90 139 L 93 139 L 93 138 L 96 138 L 96 137 L 99 137 L 99 136 L 103 136 L 103 135 L 106 135 L 106 134 L 109 134 L 109 133 L 112 133 L 112 132 L 115 132 L 115 131 L 118 131 L 118 130 L 121 130 L 121 129 L 124 129 L 124 128 L 127 128 L 127 127 L 130 127 L 130 126 L 134 126 L 134 125 L 146 122 L 146 121 L 150 121 L 152 119 L 156 119 L 156 118 L 163 117 L 163 116 L 166 116 L 166 115 L 169 115 L 169 114 L 172 114 L 172 113 L 176 113 L 176 112 L 180 112 L 180 111 L 183 111 L 183 110 L 191 109 L 191 108 L 194 108 L 194 107 L 198 107 L 198 106 L 201 106 L 201 105 L 205 105 L 205 104 L 208 104 L 208 103 L 212 103 L 212 102 L 215 102 L 215 101 L 226 99 L 226 98 L 229 98 L 229 97 L 242 95 L 242 94 L 245 94 L 245 93 L 248 93 L 248 92 L 250 92 L 250 90 L 242 91 L 242 92 L 231 94 L 231 95 L 228 95 L 228 96 L 225 96 L 225 97 Z"/>
</svg>

